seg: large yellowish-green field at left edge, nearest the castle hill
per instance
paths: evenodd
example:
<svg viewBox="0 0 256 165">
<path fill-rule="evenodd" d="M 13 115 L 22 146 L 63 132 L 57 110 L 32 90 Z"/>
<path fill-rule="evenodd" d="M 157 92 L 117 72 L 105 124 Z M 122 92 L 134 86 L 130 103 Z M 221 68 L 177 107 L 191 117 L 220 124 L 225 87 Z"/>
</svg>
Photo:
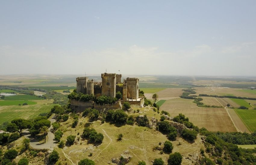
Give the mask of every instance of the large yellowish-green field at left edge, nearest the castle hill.
<svg viewBox="0 0 256 165">
<path fill-rule="evenodd" d="M 38 116 L 40 113 L 49 112 L 51 108 L 55 105 L 57 104 L 35 104 L 26 106 L 11 106 L 2 109 L 0 108 L 0 125 L 3 122 L 10 122 L 15 118 L 34 118 Z"/>
</svg>

